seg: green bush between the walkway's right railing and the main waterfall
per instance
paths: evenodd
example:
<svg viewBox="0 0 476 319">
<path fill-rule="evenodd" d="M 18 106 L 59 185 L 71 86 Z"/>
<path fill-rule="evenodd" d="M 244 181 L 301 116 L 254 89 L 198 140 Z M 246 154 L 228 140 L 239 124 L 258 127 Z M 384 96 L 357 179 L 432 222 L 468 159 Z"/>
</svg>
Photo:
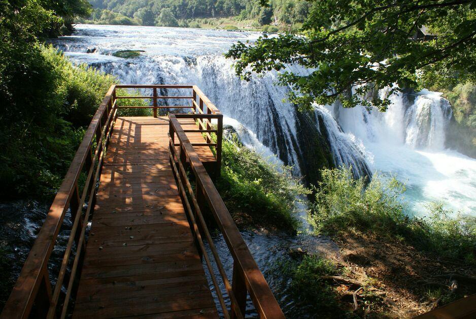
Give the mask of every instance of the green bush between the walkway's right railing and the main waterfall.
<svg viewBox="0 0 476 319">
<path fill-rule="evenodd" d="M 291 168 L 280 171 L 235 135 L 223 141 L 222 154 L 217 188 L 235 220 L 295 231 L 299 226 L 297 198 L 308 191 L 292 177 Z"/>
</svg>

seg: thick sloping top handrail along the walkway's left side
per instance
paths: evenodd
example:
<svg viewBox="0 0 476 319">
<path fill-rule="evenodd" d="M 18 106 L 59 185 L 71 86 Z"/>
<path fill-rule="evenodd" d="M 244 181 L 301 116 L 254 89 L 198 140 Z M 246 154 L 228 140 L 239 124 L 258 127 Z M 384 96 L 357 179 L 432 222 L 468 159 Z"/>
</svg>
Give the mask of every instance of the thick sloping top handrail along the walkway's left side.
<svg viewBox="0 0 476 319">
<path fill-rule="evenodd" d="M 46 316 L 52 302 L 48 261 L 67 210 L 71 208 L 72 215 L 76 210 L 81 212 L 81 209 L 78 208 L 82 208 L 84 203 L 79 200 L 78 180 L 85 163 L 89 162 L 91 166 L 94 166 L 94 161 L 91 158 L 91 147 L 93 142 L 102 143 L 103 127 L 110 124 L 107 118 L 109 118 L 109 121 L 113 120 L 109 114 L 113 110 L 112 97 L 114 93 L 115 85 L 112 85 L 94 114 L 53 200 L 38 237 L 28 253 L 12 293 L 0 315 L 1 318 L 26 318 L 30 315 L 33 303 L 36 303 L 36 307 L 41 308 L 38 310 Z M 106 134 L 110 134 L 110 132 Z M 95 182 L 86 182 L 84 187 L 95 187 Z M 89 201 L 91 200 L 90 198 Z M 84 227 L 85 225 L 83 225 Z M 75 236 L 75 234 L 70 236 Z M 54 302 L 57 302 L 57 300 Z M 42 304 L 40 305 L 40 303 Z"/>
</svg>

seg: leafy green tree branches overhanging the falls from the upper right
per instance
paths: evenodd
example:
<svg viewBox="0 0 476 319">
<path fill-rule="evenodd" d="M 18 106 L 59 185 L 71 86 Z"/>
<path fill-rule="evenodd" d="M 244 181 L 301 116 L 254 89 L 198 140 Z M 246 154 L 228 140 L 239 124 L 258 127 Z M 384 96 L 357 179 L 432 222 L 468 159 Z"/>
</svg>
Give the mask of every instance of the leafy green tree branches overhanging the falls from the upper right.
<svg viewBox="0 0 476 319">
<path fill-rule="evenodd" d="M 266 5 L 266 0 L 261 0 Z M 283 70 L 301 65 L 309 75 L 283 72 L 280 81 L 295 88 L 290 101 L 345 107 L 357 104 L 385 110 L 392 91 L 436 83 L 476 80 L 476 1 L 474 0 L 314 0 L 301 35 L 266 36 L 234 45 L 237 73 Z M 423 32 L 422 32 L 423 30 Z M 352 88 L 355 93 L 352 94 Z"/>
</svg>

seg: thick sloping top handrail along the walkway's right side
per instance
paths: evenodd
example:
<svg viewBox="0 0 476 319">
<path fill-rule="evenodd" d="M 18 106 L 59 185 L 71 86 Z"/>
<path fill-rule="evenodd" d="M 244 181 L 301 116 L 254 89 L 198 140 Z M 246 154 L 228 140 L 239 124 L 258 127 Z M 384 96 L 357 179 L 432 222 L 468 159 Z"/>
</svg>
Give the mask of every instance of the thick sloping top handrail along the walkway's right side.
<svg viewBox="0 0 476 319">
<path fill-rule="evenodd" d="M 201 98 L 202 99 L 202 98 Z M 193 114 L 194 116 L 204 116 L 209 114 Z M 182 126 L 177 119 L 178 117 L 187 117 L 191 115 L 182 114 L 169 114 L 170 127 L 169 135 L 171 136 L 171 144 L 169 145 L 169 151 L 171 154 L 171 162 L 173 158 L 177 158 L 175 154 L 175 136 L 180 141 L 181 153 L 179 165 L 184 165 L 188 162 L 190 168 L 195 176 L 196 183 L 196 196 L 203 196 L 210 208 L 218 227 L 225 239 L 228 249 L 233 258 L 233 298 L 239 300 L 238 302 L 241 312 L 244 313 L 246 292 L 248 291 L 253 304 L 258 311 L 258 314 L 262 318 L 284 318 L 284 314 L 279 307 L 273 293 L 269 289 L 269 286 L 264 279 L 263 274 L 258 268 L 251 252 L 248 249 L 245 241 L 243 240 L 240 231 L 236 227 L 228 209 L 225 206 L 218 190 L 216 189 L 211 177 L 207 173 L 205 167 L 201 163 L 198 154 L 190 143 L 187 135 L 185 134 Z M 172 150 L 174 148 L 174 150 Z M 171 163 L 175 165 L 175 163 Z M 187 178 L 186 174 L 180 174 L 176 178 L 182 183 L 183 178 Z M 184 199 L 185 200 L 185 199 Z M 206 228 L 206 225 L 200 225 L 202 228 Z M 213 242 L 209 242 L 212 246 Z M 206 252 L 203 252 L 206 253 Z M 218 262 L 217 262 L 218 263 Z M 246 289 L 246 290 L 245 290 Z M 232 305 L 233 309 L 233 305 Z M 224 311 L 226 311 L 224 309 Z M 232 311 L 233 313 L 233 311 Z"/>
</svg>

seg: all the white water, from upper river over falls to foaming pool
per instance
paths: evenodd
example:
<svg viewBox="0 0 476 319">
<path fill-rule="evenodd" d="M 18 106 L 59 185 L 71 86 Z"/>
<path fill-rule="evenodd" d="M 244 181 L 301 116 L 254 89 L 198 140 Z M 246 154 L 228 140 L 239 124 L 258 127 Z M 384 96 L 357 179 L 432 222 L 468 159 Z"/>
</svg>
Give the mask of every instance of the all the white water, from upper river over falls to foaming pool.
<svg viewBox="0 0 476 319">
<path fill-rule="evenodd" d="M 196 84 L 230 125 L 242 128 L 237 131 L 246 144 L 277 154 L 270 158 L 294 166 L 296 175 L 303 171 L 296 111 L 283 102 L 289 88 L 276 85 L 275 72 L 241 81 L 223 56 L 233 43 L 254 41 L 259 33 L 81 24 L 76 29 L 72 36 L 53 40 L 73 61 L 122 83 Z M 117 50 L 144 52 L 123 59 L 111 55 Z M 448 101 L 429 91 L 410 98 L 414 101 L 392 95 L 385 113 L 315 106 L 314 129 L 326 136 L 335 165 L 352 165 L 357 175 L 368 170 L 396 174 L 406 183 L 406 198 L 416 214 L 424 214 L 429 201 L 444 201 L 448 208 L 476 215 L 476 160 L 445 146 L 452 116 Z"/>
</svg>

